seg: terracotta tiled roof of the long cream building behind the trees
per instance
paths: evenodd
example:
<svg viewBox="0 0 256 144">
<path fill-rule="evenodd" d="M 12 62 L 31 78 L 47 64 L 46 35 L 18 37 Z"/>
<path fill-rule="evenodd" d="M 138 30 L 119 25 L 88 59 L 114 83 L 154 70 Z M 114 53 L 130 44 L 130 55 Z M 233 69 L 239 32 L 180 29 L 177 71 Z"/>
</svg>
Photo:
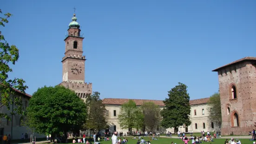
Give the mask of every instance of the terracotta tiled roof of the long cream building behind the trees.
<svg viewBox="0 0 256 144">
<path fill-rule="evenodd" d="M 149 100 L 149 99 L 126 99 L 126 98 L 104 98 L 103 104 L 104 105 L 123 105 L 127 103 L 129 100 L 133 100 L 136 105 L 142 105 L 144 102 L 153 102 L 159 106 L 165 106 L 163 100 Z M 209 98 L 201 98 L 190 100 L 190 105 L 199 105 L 199 104 L 206 104 Z"/>
</svg>

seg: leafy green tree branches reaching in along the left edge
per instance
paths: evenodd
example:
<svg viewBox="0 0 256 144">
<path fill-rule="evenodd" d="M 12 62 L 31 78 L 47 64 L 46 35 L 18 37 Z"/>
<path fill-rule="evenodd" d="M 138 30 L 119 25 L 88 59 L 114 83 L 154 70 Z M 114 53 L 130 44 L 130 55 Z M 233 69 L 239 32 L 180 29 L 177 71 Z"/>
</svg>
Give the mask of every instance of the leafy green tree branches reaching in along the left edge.
<svg viewBox="0 0 256 144">
<path fill-rule="evenodd" d="M 0 13 L 2 13 L 0 9 Z M 11 13 L 4 14 L 4 17 L 0 17 L 0 26 L 5 26 L 9 21 L 7 20 L 12 16 Z M 22 100 L 21 98 L 14 98 L 15 92 L 19 90 L 25 93 L 26 88 L 28 88 L 23 79 L 9 79 L 8 73 L 13 72 L 10 68 L 10 63 L 15 65 L 15 62 L 19 59 L 19 50 L 14 45 L 9 45 L 4 38 L 4 35 L 0 31 L 0 108 L 6 106 L 7 110 L 10 110 L 10 105 L 16 105 L 10 113 L 0 112 L 0 118 L 7 118 L 10 120 L 10 116 L 14 114 L 22 114 Z"/>
</svg>

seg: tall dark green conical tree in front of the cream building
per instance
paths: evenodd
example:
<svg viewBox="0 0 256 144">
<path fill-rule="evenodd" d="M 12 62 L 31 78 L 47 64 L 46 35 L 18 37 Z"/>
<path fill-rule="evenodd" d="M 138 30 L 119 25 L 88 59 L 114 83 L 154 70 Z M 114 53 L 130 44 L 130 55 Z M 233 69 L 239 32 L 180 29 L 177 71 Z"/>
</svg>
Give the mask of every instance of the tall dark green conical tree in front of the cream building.
<svg viewBox="0 0 256 144">
<path fill-rule="evenodd" d="M 190 125 L 190 97 L 187 93 L 187 85 L 178 83 L 168 92 L 169 98 L 163 101 L 165 108 L 161 111 L 164 128 L 176 128 L 180 125 Z"/>
</svg>

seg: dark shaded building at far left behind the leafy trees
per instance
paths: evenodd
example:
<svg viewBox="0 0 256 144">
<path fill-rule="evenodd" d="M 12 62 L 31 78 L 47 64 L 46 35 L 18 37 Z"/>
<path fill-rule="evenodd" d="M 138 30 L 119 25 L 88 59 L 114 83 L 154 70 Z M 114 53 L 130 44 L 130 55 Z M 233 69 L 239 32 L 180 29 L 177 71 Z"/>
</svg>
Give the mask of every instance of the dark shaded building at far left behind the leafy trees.
<svg viewBox="0 0 256 144">
<path fill-rule="evenodd" d="M 32 97 L 29 94 L 24 94 L 20 92 L 19 90 L 13 89 L 15 91 L 14 95 L 11 95 L 11 98 L 15 97 L 20 97 L 22 99 L 23 103 L 23 109 L 26 109 L 28 106 L 28 101 Z M 10 110 L 7 110 L 7 107 L 1 107 L 0 111 L 1 113 L 10 113 L 13 108 L 17 108 L 16 105 L 10 105 Z M 20 139 L 22 133 L 27 133 L 28 138 L 30 138 L 30 135 L 32 134 L 32 131 L 23 124 L 23 120 L 25 120 L 25 116 L 15 114 L 12 117 L 11 121 L 8 121 L 6 118 L 0 118 L 0 137 L 3 137 L 3 135 L 12 135 L 13 139 Z M 12 130 L 13 129 L 13 130 Z M 13 132 L 12 132 L 13 131 Z M 37 133 L 34 133 L 34 135 L 39 138 L 39 137 L 45 137 L 43 135 L 39 135 Z"/>
</svg>

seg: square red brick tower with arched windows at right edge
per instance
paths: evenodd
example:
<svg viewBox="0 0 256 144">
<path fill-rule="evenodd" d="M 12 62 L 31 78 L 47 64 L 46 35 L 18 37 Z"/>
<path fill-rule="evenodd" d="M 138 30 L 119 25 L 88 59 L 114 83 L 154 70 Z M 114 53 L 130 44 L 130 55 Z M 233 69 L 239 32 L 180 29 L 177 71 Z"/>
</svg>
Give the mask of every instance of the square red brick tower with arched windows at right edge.
<svg viewBox="0 0 256 144">
<path fill-rule="evenodd" d="M 222 135 L 247 135 L 256 125 L 256 58 L 245 57 L 219 67 Z"/>
</svg>

